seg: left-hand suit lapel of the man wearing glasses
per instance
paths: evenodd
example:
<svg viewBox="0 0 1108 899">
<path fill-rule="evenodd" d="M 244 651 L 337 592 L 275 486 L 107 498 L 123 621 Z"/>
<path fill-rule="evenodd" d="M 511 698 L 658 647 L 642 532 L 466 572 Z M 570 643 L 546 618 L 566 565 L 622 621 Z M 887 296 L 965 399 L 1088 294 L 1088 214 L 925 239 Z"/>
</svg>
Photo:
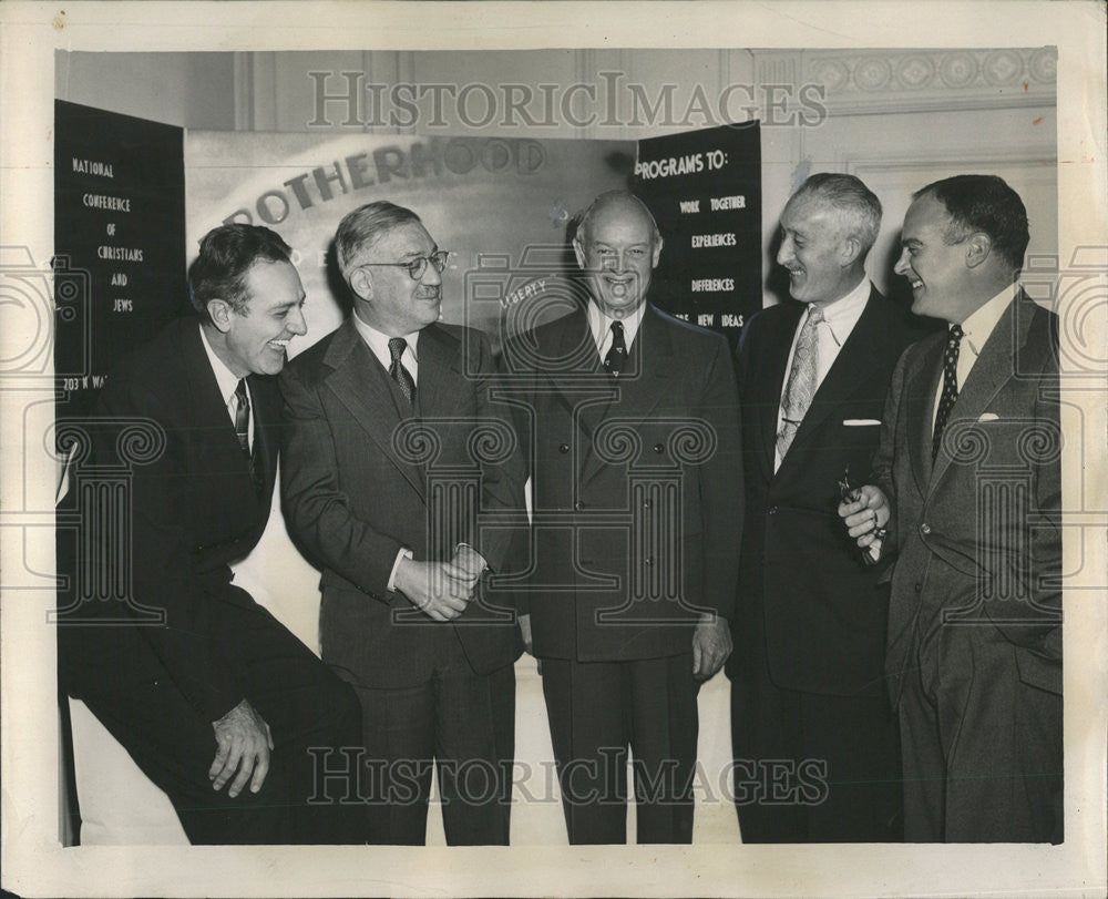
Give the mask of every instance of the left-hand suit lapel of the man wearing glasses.
<svg viewBox="0 0 1108 899">
<path fill-rule="evenodd" d="M 349 318 L 335 333 L 324 364 L 332 369 L 326 379 L 327 386 L 425 501 L 423 472 L 400 459 L 392 447 L 392 435 L 400 425 L 400 416 L 392 392 L 381 377 L 381 365 Z M 422 361 L 420 366 L 422 381 Z"/>
</svg>

